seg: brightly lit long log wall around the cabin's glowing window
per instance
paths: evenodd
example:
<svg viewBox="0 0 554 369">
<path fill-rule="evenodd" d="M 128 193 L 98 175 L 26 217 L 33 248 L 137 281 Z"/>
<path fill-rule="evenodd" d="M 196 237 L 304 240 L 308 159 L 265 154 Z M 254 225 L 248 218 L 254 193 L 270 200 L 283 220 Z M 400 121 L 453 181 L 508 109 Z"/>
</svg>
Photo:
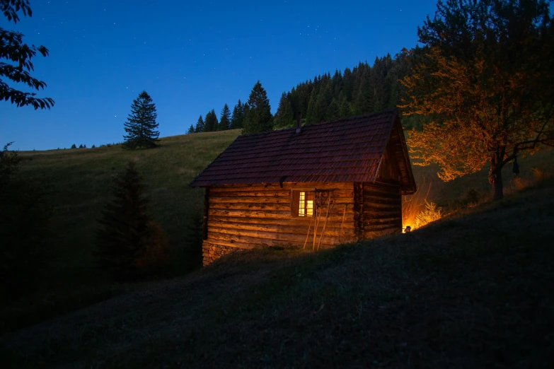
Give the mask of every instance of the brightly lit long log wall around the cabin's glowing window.
<svg viewBox="0 0 554 369">
<path fill-rule="evenodd" d="M 352 183 L 284 183 L 275 185 L 232 185 L 209 188 L 207 204 L 207 239 L 209 250 L 214 246 L 251 249 L 260 246 L 303 247 L 310 218 L 295 218 L 291 213 L 292 189 L 333 189 L 325 234 L 321 248 L 354 242 L 354 187 Z M 327 206 L 316 230 L 319 242 Z M 343 223 L 344 216 L 344 223 Z M 313 218 L 306 248 L 313 246 Z M 341 230 L 342 225 L 342 230 Z M 204 264 L 212 262 L 204 255 Z"/>
</svg>

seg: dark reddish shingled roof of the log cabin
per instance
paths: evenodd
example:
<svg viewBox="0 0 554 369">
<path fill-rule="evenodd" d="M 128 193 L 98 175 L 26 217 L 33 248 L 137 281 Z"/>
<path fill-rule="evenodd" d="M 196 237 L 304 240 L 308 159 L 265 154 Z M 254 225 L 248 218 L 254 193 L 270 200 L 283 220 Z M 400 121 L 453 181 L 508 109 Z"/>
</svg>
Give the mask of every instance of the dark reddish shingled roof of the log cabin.
<svg viewBox="0 0 554 369">
<path fill-rule="evenodd" d="M 374 182 L 393 129 L 396 110 L 238 136 L 192 187 L 279 182 Z M 402 189 L 415 192 L 403 134 L 396 157 L 403 161 Z"/>
</svg>

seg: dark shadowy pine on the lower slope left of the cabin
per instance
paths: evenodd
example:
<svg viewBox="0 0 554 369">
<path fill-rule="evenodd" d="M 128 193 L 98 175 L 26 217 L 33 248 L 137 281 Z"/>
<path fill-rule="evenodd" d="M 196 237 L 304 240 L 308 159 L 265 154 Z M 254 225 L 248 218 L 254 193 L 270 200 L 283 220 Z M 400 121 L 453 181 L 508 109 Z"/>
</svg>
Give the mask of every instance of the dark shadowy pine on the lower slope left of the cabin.
<svg viewBox="0 0 554 369">
<path fill-rule="evenodd" d="M 144 254 L 166 254 L 163 235 L 148 213 L 149 199 L 144 194 L 142 177 L 134 163 L 115 180 L 114 199 L 105 205 L 101 228 L 96 232 L 98 264 L 117 280 L 135 279 L 139 266 L 148 264 Z"/>
</svg>

